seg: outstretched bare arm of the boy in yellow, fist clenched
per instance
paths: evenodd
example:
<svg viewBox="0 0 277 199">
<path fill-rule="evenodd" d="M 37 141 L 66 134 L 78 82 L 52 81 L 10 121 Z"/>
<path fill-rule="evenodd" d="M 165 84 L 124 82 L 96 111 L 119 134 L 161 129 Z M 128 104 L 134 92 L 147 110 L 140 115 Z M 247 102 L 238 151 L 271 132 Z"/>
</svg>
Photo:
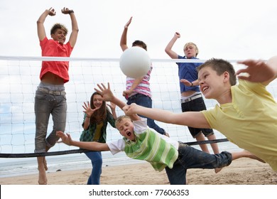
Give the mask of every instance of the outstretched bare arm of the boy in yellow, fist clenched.
<svg viewBox="0 0 277 199">
<path fill-rule="evenodd" d="M 173 113 L 163 109 L 141 107 L 134 103 L 124 107 L 124 112 L 126 115 L 141 114 L 145 117 L 168 124 L 179 124 L 188 127 L 210 129 L 210 124 L 208 124 L 204 114 L 201 112 Z"/>
</svg>

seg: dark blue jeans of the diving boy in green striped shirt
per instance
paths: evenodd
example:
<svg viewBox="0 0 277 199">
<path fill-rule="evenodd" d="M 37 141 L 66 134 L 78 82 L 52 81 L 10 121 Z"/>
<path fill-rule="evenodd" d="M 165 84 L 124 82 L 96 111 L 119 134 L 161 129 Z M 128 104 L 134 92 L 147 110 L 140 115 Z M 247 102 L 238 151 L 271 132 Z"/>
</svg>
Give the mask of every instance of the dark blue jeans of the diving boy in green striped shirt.
<svg viewBox="0 0 277 199">
<path fill-rule="evenodd" d="M 165 167 L 171 185 L 185 185 L 188 168 L 222 168 L 232 163 L 232 154 L 227 151 L 207 154 L 187 144 L 180 144 L 178 153 L 173 168 Z"/>
</svg>

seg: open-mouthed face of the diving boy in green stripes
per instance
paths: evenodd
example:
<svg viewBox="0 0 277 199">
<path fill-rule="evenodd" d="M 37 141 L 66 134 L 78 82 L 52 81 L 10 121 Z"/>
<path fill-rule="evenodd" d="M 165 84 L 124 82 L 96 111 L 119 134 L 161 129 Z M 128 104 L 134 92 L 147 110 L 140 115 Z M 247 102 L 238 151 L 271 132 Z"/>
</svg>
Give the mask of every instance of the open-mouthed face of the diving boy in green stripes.
<svg viewBox="0 0 277 199">
<path fill-rule="evenodd" d="M 131 141 L 136 140 L 134 134 L 134 124 L 131 122 L 129 117 L 119 117 L 116 121 L 116 129 L 119 130 L 119 133 Z"/>
</svg>

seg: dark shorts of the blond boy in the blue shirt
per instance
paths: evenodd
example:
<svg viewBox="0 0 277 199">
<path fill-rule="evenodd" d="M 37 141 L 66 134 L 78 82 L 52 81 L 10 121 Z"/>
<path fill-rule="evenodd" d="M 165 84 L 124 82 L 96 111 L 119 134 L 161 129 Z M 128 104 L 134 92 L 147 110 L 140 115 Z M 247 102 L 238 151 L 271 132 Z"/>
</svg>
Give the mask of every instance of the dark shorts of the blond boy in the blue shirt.
<svg viewBox="0 0 277 199">
<path fill-rule="evenodd" d="M 182 107 L 182 112 L 200 112 L 202 110 L 207 109 L 204 99 L 202 97 L 193 99 L 190 102 L 182 103 L 181 107 Z M 188 129 L 190 130 L 190 134 L 192 135 L 193 138 L 195 138 L 197 134 L 200 134 L 201 132 L 206 137 L 214 134 L 214 131 L 212 131 L 212 129 L 197 129 L 192 127 L 188 127 Z"/>
</svg>

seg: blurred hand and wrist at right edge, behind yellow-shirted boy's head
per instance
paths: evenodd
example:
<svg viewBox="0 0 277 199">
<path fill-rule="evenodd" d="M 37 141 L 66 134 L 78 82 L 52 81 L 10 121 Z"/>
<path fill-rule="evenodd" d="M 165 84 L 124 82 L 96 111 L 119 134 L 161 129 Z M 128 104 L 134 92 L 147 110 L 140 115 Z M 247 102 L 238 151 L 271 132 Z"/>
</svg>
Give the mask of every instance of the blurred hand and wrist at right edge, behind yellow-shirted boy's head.
<svg viewBox="0 0 277 199">
<path fill-rule="evenodd" d="M 236 73 L 241 80 L 261 82 L 264 85 L 268 85 L 277 77 L 277 56 L 273 56 L 267 62 L 262 60 L 244 60 L 238 63 L 246 65 L 246 68 L 238 70 Z M 249 75 L 240 75 L 242 72 L 247 72 Z"/>
</svg>

